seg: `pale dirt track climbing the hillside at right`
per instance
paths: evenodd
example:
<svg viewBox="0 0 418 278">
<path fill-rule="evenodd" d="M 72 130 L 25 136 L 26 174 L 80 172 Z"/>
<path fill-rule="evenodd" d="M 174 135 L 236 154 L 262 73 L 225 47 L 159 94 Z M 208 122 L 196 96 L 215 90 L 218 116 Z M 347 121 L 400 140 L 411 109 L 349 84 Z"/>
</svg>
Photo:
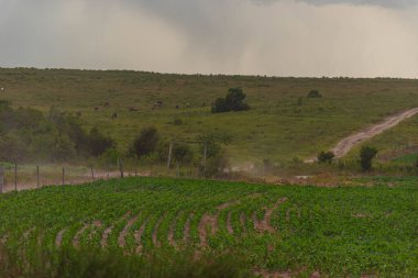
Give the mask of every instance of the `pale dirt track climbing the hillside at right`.
<svg viewBox="0 0 418 278">
<path fill-rule="evenodd" d="M 398 125 L 402 121 L 411 118 L 418 113 L 418 108 L 414 108 L 402 112 L 399 114 L 386 118 L 383 122 L 375 124 L 371 127 L 365 129 L 362 132 L 353 134 L 344 140 L 342 140 L 338 145 L 332 149 L 336 155 L 336 158 L 341 158 L 346 155 L 354 146 L 360 143 L 370 140 L 384 131 L 387 131 L 396 125 Z"/>
</svg>

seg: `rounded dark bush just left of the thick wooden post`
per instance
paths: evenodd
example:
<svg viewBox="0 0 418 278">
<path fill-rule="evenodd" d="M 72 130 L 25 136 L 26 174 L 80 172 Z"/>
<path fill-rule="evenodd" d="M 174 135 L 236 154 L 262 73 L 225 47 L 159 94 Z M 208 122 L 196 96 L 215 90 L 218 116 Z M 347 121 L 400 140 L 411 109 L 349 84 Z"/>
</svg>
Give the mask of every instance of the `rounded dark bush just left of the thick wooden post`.
<svg viewBox="0 0 418 278">
<path fill-rule="evenodd" d="M 148 156 L 156 149 L 158 145 L 160 135 L 155 127 L 142 129 L 140 134 L 133 140 L 130 147 L 130 154 L 141 158 Z"/>
</svg>

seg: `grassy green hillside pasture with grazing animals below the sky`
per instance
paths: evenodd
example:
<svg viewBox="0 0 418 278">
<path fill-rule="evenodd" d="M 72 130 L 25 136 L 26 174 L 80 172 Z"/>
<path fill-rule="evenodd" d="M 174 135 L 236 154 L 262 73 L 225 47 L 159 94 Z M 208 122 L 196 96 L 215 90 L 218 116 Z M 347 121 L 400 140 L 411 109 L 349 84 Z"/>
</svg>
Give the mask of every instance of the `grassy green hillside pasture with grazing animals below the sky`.
<svg viewBox="0 0 418 278">
<path fill-rule="evenodd" d="M 86 129 L 98 125 L 124 151 L 141 127 L 164 138 L 195 140 L 218 132 L 232 136 L 233 163 L 310 158 L 342 137 L 384 116 L 418 107 L 418 80 L 187 76 L 138 71 L 0 69 L 2 98 L 14 107 L 81 113 Z M 211 114 L 210 103 L 242 87 L 251 111 Z M 323 96 L 308 99 L 317 89 Z M 298 105 L 302 98 L 301 105 Z M 162 109 L 152 110 L 156 101 Z M 103 104 L 109 102 L 109 107 Z M 187 103 L 189 107 L 187 108 Z M 175 107 L 179 105 L 179 109 Z M 97 110 L 96 110 L 97 108 Z M 130 111 L 130 108 L 138 111 Z M 112 121 L 113 112 L 118 119 Z M 180 119 L 183 124 L 173 124 Z M 376 138 L 381 153 L 417 144 L 418 120 Z"/>
</svg>

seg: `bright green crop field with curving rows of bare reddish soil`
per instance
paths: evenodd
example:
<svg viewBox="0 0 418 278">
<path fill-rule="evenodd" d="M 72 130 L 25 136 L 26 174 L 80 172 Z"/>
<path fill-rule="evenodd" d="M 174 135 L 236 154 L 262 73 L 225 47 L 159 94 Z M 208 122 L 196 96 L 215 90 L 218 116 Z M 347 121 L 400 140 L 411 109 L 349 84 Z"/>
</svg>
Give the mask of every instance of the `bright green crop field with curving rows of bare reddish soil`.
<svg viewBox="0 0 418 278">
<path fill-rule="evenodd" d="M 13 248 L 231 254 L 262 277 L 416 277 L 417 181 L 320 188 L 125 178 L 46 187 L 0 196 L 0 237 Z"/>
</svg>

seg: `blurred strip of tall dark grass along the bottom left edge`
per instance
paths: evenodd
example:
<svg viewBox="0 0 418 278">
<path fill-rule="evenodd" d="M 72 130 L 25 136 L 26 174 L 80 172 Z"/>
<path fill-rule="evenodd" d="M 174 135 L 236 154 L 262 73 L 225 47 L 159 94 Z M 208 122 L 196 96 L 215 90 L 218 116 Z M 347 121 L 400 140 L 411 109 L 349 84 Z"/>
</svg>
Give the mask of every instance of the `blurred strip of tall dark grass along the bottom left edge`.
<svg viewBox="0 0 418 278">
<path fill-rule="evenodd" d="M 22 249 L 20 249 L 22 251 Z M 184 254 L 158 253 L 147 257 L 121 252 L 63 248 L 57 252 L 34 246 L 25 252 L 0 246 L 0 277 L 7 278 L 239 278 L 249 273 L 240 269 L 232 257 L 193 259 Z"/>
</svg>

